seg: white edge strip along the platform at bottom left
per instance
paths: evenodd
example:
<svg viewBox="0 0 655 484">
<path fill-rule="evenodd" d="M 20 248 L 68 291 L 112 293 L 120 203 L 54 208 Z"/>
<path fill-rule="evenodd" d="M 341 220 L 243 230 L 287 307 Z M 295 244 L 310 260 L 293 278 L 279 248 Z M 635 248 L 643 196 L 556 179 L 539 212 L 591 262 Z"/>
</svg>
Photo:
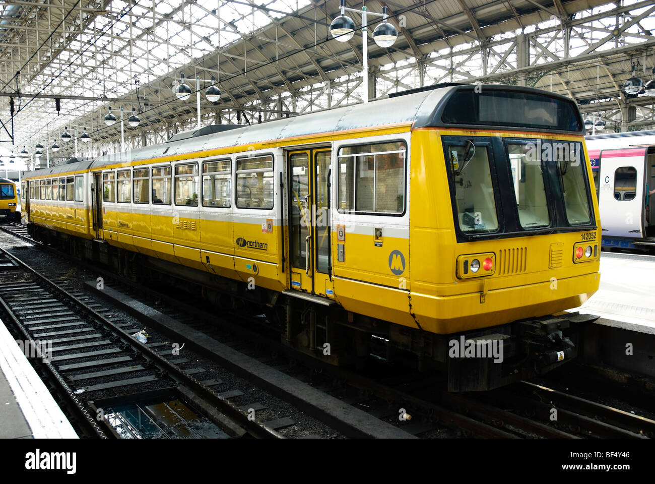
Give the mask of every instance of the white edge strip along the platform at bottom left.
<svg viewBox="0 0 655 484">
<path fill-rule="evenodd" d="M 35 439 L 77 439 L 77 434 L 0 319 L 0 368 Z"/>
</svg>

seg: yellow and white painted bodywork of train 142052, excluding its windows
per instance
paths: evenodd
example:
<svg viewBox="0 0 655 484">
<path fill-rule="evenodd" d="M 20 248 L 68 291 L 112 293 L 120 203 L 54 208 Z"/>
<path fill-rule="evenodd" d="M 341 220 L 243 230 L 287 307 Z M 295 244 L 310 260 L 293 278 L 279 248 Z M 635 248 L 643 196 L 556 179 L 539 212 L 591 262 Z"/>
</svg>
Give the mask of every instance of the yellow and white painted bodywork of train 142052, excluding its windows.
<svg viewBox="0 0 655 484">
<path fill-rule="evenodd" d="M 371 104 L 375 106 L 377 103 Z M 307 300 L 328 307 L 336 305 L 348 314 L 346 325 L 356 325 L 353 323 L 356 318 L 352 315 L 363 316 L 366 324 L 374 321 L 373 327 L 375 321 L 390 323 L 386 336 L 392 334 L 402 341 L 401 327 L 437 335 L 488 329 L 580 306 L 597 291 L 601 228 L 595 197 L 588 198 L 591 218 L 580 230 L 575 227 L 567 230 L 553 228 L 550 232 L 542 230 L 525 236 L 512 233 L 507 237 L 502 233 L 496 237 L 485 233 L 479 237 L 462 235 L 461 230 L 458 232 L 457 216 L 453 216 L 453 207 L 460 203 L 460 199 L 455 200 L 453 195 L 455 189 L 450 171 L 454 171 L 455 165 L 450 166 L 445 159 L 449 149 L 445 146 L 446 139 L 489 140 L 491 144 L 512 140 L 527 144 L 552 140 L 584 147 L 583 132 L 566 134 L 546 129 L 523 131 L 502 127 L 417 127 L 417 123 L 412 121 L 277 136 L 268 140 L 257 140 L 255 132 L 246 143 L 212 146 L 209 141 L 204 143 L 202 150 L 174 149 L 170 155 L 156 155 L 168 150 L 153 149 L 149 156 L 146 156 L 149 153 L 142 156 L 126 153 L 88 162 L 85 168 L 78 163 L 71 165 L 71 171 L 67 171 L 64 165 L 50 171 L 33 172 L 26 176 L 24 191 L 29 195 L 29 222 L 35 226 L 86 239 L 88 243 L 107 244 L 233 279 L 244 285 L 252 283 L 270 293 L 282 292 L 291 298 L 307 296 Z M 346 183 L 343 181 L 346 176 L 343 167 L 347 159 L 340 153 L 345 153 L 344 150 L 353 144 L 370 147 L 376 142 L 398 143 L 401 151 L 406 148 L 407 156 L 402 154 L 398 158 L 402 159 L 402 165 L 397 171 L 401 173 L 404 167 L 403 188 L 398 189 L 398 195 L 390 193 L 388 200 L 384 201 L 390 206 L 395 196 L 399 209 L 377 218 L 375 214 L 358 218 L 358 213 L 343 209 L 348 200 L 339 190 L 341 184 Z M 290 165 L 294 153 L 300 158 L 310 159 L 321 152 L 326 153 L 326 157 L 329 153 L 329 167 L 333 173 L 331 185 L 329 180 L 327 182 L 327 198 L 328 201 L 329 197 L 332 199 L 329 224 L 324 230 L 318 223 L 320 214 L 314 213 L 320 198 L 316 195 L 320 189 L 318 181 L 310 182 L 307 174 L 310 198 L 305 195 L 303 201 L 300 193 L 294 190 L 305 190 L 304 169 L 299 170 L 293 165 L 295 171 L 292 171 Z M 585 174 L 584 188 L 594 193 L 586 148 L 583 153 L 581 173 Z M 237 184 L 241 180 L 239 160 L 266 156 L 274 160 L 270 170 L 273 182 L 268 188 L 272 193 L 273 208 L 239 208 L 235 203 L 235 196 L 239 196 L 235 192 L 240 190 Z M 376 159 L 373 155 L 370 157 Z M 203 206 L 203 203 L 198 203 L 197 193 L 200 189 L 206 190 L 203 176 L 204 167 L 208 165 L 205 163 L 221 159 L 231 163 L 231 202 L 229 207 Z M 171 167 L 169 180 L 172 188 L 169 190 L 178 190 L 174 182 L 176 176 L 181 175 L 176 175 L 174 170 L 189 163 L 197 165 L 195 198 L 187 193 L 191 196 L 186 199 L 191 207 L 176 205 L 176 195 L 171 197 L 170 205 L 155 205 L 154 192 L 149 203 L 134 201 L 136 184 L 132 176 L 135 171 L 148 169 L 152 174 L 157 167 Z M 358 163 L 362 175 L 363 162 Z M 318 168 L 308 169 L 316 176 L 315 180 L 320 178 Z M 100 186 L 105 187 L 105 192 L 107 187 L 111 188 L 111 184 L 107 184 L 111 182 L 102 184 L 102 177 L 108 172 L 125 171 L 128 174 L 122 176 L 130 180 L 130 200 L 126 203 L 101 200 Z M 354 176 L 359 176 L 356 169 L 354 172 Z M 337 174 L 341 176 L 339 187 L 335 187 Z M 375 176 L 381 177 L 382 172 L 376 171 Z M 43 183 L 45 180 L 48 184 Z M 53 196 L 54 180 L 58 186 L 56 197 Z M 153 188 L 153 180 L 149 180 L 148 191 Z M 516 178 L 514 180 L 518 183 Z M 375 186 L 376 182 L 373 183 Z M 65 186 L 63 190 L 62 184 Z M 310 190 L 312 186 L 314 189 Z M 80 196 L 77 196 L 78 189 Z M 47 190 L 52 190 L 49 199 Z M 383 200 L 384 190 L 379 192 L 373 196 Z M 202 197 L 204 191 L 199 199 L 204 200 Z M 518 201 L 518 194 L 516 197 Z M 312 200 L 312 204 L 308 200 Z M 193 205 L 194 201 L 197 205 Z M 320 203 L 327 204 L 324 196 Z M 312 209 L 305 211 L 310 205 Z M 300 220 L 299 224 L 296 220 Z M 302 232 L 303 220 L 309 224 L 310 230 Z M 304 242 L 295 241 L 296 238 L 301 240 L 298 234 L 305 233 L 309 235 Z M 307 246 L 303 252 L 304 244 Z M 322 249 L 318 249 L 319 246 Z M 592 248 L 592 254 L 576 258 L 578 247 L 585 251 L 588 246 Z M 297 254 L 307 257 L 309 266 L 305 263 L 305 266 L 298 267 L 300 263 L 293 258 L 292 247 L 298 249 Z M 309 247 L 311 250 L 307 251 Z M 318 270 L 318 251 L 329 252 L 326 272 Z M 464 275 L 462 264 L 466 264 L 466 268 L 468 264 L 472 267 L 475 254 L 483 254 L 485 260 L 490 260 L 491 263 L 485 264 L 491 264 L 491 269 L 479 275 Z"/>
</svg>

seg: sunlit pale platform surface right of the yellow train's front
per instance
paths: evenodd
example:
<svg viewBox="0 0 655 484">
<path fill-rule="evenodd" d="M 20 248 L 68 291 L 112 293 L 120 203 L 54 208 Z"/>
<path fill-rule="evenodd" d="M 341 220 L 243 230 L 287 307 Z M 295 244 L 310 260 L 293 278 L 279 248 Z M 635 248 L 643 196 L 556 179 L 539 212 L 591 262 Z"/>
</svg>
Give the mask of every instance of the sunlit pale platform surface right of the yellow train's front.
<svg viewBox="0 0 655 484">
<path fill-rule="evenodd" d="M 601 283 L 570 311 L 599 315 L 597 324 L 655 334 L 655 256 L 601 252 Z"/>
</svg>

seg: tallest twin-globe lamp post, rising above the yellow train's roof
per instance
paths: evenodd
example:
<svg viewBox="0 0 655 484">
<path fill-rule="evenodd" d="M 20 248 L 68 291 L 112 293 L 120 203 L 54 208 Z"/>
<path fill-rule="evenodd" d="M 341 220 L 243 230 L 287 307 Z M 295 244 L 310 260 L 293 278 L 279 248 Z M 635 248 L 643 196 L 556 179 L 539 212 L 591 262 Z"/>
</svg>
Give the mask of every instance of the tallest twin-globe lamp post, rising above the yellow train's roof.
<svg viewBox="0 0 655 484">
<path fill-rule="evenodd" d="M 352 19 L 345 15 L 346 10 L 348 12 L 357 12 L 362 14 L 362 78 L 364 83 L 364 102 L 368 102 L 368 24 L 367 16 L 375 15 L 382 17 L 383 22 L 378 24 L 378 26 L 373 30 L 373 40 L 379 47 L 386 49 L 394 45 L 396 39 L 398 39 L 398 31 L 392 24 L 386 21 L 388 17 L 387 7 L 382 7 L 382 13 L 369 12 L 366 7 L 362 7 L 362 10 L 350 9 L 346 7 L 346 0 L 341 0 L 341 15 L 332 20 L 332 23 L 329 26 L 329 31 L 332 34 L 332 37 L 337 39 L 339 42 L 347 42 L 352 39 L 352 35 L 355 33 L 355 23 Z"/>
</svg>

